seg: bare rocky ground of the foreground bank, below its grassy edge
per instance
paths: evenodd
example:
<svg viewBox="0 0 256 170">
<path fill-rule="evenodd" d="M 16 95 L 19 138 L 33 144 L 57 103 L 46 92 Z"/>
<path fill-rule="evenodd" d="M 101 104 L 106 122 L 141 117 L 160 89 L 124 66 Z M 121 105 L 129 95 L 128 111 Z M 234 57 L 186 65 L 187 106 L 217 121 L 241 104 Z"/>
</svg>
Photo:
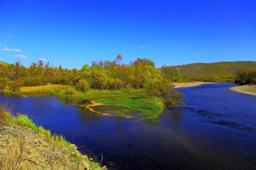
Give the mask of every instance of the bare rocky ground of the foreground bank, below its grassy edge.
<svg viewBox="0 0 256 170">
<path fill-rule="evenodd" d="M 1 170 L 106 170 L 80 154 L 74 144 L 50 144 L 44 134 L 18 126 L 0 127 Z"/>
</svg>

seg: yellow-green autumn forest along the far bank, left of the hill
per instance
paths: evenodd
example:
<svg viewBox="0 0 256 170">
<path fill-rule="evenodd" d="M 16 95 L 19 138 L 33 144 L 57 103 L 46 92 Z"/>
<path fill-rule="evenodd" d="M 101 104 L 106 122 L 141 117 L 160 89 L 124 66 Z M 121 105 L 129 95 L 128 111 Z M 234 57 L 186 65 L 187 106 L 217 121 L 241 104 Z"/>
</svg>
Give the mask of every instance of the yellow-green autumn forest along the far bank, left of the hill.
<svg viewBox="0 0 256 170">
<path fill-rule="evenodd" d="M 99 95 L 108 93 L 104 90 L 115 91 L 111 93 L 142 93 L 142 89 L 143 93 L 156 97 L 141 101 L 142 108 L 145 108 L 145 102 L 148 105 L 152 105 L 152 101 L 162 103 L 160 98 L 164 99 L 164 104 L 168 107 L 182 104 L 183 95 L 174 91 L 172 84 L 179 80 L 178 68 L 158 68 L 153 61 L 146 58 L 138 58 L 125 64 L 120 54 L 113 61 L 92 61 L 91 65 L 86 63 L 81 69 L 67 69 L 61 65 L 54 67 L 49 62 L 44 64 L 42 60 L 31 63 L 29 67 L 22 65 L 20 61 L 14 64 L 0 63 L 0 92 L 4 94 L 30 91 L 30 87 L 40 87 L 40 91 L 49 87 L 55 90 L 50 93 L 56 95 L 56 86 L 49 85 L 62 85 L 62 91 L 58 93 L 60 98 L 82 99 L 95 93 L 90 89 L 103 90 L 97 91 Z"/>
</svg>

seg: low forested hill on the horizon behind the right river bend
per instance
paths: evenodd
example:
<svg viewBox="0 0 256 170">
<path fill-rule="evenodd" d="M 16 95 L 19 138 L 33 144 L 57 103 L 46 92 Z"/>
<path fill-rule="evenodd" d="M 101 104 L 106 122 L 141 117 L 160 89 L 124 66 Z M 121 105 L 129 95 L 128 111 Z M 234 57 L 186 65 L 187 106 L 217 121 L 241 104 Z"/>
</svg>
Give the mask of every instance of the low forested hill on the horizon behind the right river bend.
<svg viewBox="0 0 256 170">
<path fill-rule="evenodd" d="M 234 82 L 238 70 L 256 70 L 256 61 L 192 63 L 175 66 L 182 81 Z"/>
</svg>

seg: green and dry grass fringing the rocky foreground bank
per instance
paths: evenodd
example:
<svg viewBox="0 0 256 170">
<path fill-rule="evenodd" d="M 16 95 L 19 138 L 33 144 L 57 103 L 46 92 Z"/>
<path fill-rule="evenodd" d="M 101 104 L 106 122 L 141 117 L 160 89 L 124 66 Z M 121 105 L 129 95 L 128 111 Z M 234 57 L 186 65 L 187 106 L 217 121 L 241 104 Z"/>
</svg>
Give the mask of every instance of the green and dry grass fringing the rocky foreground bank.
<svg viewBox="0 0 256 170">
<path fill-rule="evenodd" d="M 11 113 L 11 110 L 14 107 L 14 105 L 12 105 L 10 108 L 8 108 L 7 105 L 8 103 L 6 103 L 5 105 L 0 105 L 0 126 L 8 125 L 8 124 L 16 124 L 16 125 L 28 127 L 34 130 L 35 132 L 44 134 L 46 137 L 46 140 L 51 144 L 54 144 L 57 146 L 66 146 L 68 147 L 70 152 L 73 152 L 73 151 L 75 153 L 78 152 L 77 150 L 73 150 L 73 148 L 70 146 L 70 142 L 68 142 L 63 135 L 51 134 L 50 130 L 44 129 L 42 126 L 36 125 L 31 119 L 29 119 L 28 115 L 17 114 L 17 117 L 14 117 Z M 18 136 L 12 135 L 12 137 L 17 138 Z M 24 142 L 20 142 L 20 146 L 26 146 L 26 144 Z M 10 164 L 15 165 L 15 167 L 11 169 L 17 169 L 16 165 L 18 166 L 18 164 L 20 164 L 19 162 L 22 161 L 23 159 L 22 159 L 22 156 L 17 156 L 17 152 L 20 152 L 21 149 L 18 147 L 16 147 L 15 149 L 16 150 L 13 150 L 13 151 L 12 150 L 7 151 L 6 154 L 4 154 L 4 156 L 0 156 L 0 169 L 2 168 L 10 169 L 10 166 L 9 166 Z M 14 160 L 14 158 L 16 157 L 17 157 L 17 161 Z M 94 170 L 101 169 L 100 164 L 98 162 L 90 162 L 87 156 L 81 155 L 81 154 L 80 156 L 78 156 L 78 154 L 74 155 L 75 162 L 78 163 L 82 159 L 86 160 L 86 162 L 90 164 L 90 168 Z M 55 161 L 54 166 L 56 162 L 58 161 Z"/>
</svg>

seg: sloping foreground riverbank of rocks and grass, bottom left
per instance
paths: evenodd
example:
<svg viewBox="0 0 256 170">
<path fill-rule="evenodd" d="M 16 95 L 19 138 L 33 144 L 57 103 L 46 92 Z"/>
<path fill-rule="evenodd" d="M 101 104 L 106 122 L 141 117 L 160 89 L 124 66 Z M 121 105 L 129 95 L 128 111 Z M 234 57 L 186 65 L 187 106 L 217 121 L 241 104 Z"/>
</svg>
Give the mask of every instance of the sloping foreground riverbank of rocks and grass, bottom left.
<svg viewBox="0 0 256 170">
<path fill-rule="evenodd" d="M 82 155 L 64 136 L 38 127 L 26 115 L 13 117 L 11 109 L 0 106 L 1 170 L 106 170 Z"/>
</svg>

